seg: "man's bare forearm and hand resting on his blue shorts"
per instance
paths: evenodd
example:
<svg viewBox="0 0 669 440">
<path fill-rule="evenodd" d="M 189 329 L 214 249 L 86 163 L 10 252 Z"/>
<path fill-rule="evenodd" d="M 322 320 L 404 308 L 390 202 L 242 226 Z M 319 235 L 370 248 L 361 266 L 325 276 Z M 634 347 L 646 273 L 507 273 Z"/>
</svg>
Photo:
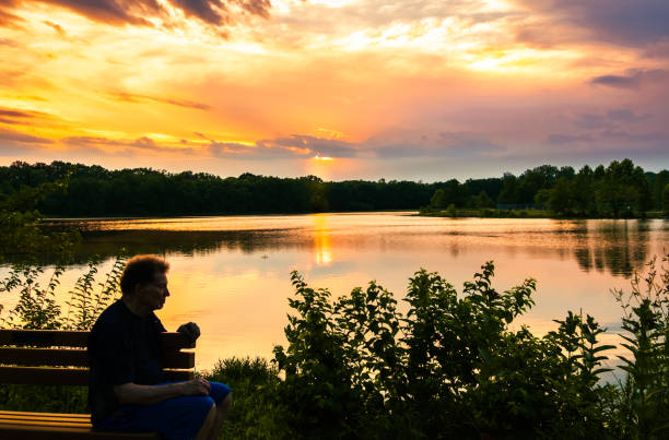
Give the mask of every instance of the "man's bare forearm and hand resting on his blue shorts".
<svg viewBox="0 0 669 440">
<path fill-rule="evenodd" d="M 138 385 L 132 382 L 114 385 L 114 394 L 121 405 L 151 405 L 179 395 L 208 395 L 210 390 L 204 379 L 164 385 Z"/>
</svg>

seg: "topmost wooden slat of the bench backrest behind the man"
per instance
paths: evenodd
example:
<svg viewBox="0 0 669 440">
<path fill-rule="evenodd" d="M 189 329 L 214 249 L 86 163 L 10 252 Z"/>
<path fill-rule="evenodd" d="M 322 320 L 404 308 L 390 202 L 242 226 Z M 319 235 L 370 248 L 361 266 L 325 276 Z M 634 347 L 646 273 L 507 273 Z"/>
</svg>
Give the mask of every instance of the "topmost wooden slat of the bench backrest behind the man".
<svg viewBox="0 0 669 440">
<path fill-rule="evenodd" d="M 77 332 L 66 330 L 0 330 L 0 346 L 35 346 L 35 347 L 82 347 L 89 345 L 90 332 Z M 165 349 L 195 348 L 196 344 L 190 342 L 181 333 L 161 333 L 161 340 Z"/>
</svg>

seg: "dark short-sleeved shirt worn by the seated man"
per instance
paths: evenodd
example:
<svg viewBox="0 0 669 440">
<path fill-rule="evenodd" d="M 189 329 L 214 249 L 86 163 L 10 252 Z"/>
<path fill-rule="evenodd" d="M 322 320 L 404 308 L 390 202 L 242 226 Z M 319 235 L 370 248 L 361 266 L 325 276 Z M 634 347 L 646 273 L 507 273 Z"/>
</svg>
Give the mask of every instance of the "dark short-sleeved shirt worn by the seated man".
<svg viewBox="0 0 669 440">
<path fill-rule="evenodd" d="M 119 299 L 102 312 L 89 337 L 89 404 L 93 425 L 114 415 L 118 400 L 114 385 L 163 382 L 161 320 L 132 313 Z"/>
</svg>

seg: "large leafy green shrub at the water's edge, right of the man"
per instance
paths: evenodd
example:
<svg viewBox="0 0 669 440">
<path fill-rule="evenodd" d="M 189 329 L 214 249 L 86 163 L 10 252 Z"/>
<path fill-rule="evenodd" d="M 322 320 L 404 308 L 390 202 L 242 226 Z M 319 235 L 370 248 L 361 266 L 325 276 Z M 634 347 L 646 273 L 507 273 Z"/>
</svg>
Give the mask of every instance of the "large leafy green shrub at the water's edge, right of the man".
<svg viewBox="0 0 669 440">
<path fill-rule="evenodd" d="M 397 311 L 392 294 L 369 283 L 330 300 L 292 274 L 285 373 L 278 383 L 287 424 L 304 438 L 517 438 L 607 435 L 598 387 L 606 359 L 587 316 L 556 331 L 509 330 L 532 305 L 536 283 L 497 292 L 489 262 L 462 295 L 438 274 L 410 278 Z"/>
</svg>

